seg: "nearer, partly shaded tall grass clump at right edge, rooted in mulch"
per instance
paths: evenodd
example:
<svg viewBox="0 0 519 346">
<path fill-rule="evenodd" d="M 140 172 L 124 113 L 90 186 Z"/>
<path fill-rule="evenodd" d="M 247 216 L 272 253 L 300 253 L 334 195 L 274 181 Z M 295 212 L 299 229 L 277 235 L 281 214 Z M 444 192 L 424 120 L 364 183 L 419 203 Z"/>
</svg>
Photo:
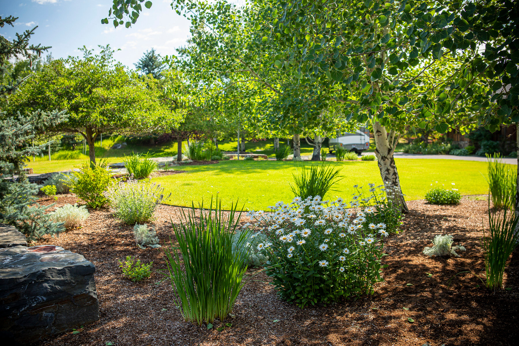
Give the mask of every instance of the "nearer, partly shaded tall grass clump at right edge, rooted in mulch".
<svg viewBox="0 0 519 346">
<path fill-rule="evenodd" d="M 511 197 L 503 201 L 503 205 L 511 205 Z M 507 260 L 517 246 L 519 232 L 513 209 L 504 208 L 501 211 L 490 210 L 490 198 L 488 199 L 489 229 L 485 232 L 483 227 L 483 251 L 485 252 L 486 286 L 496 291 L 503 285 L 504 268 Z"/>
</svg>

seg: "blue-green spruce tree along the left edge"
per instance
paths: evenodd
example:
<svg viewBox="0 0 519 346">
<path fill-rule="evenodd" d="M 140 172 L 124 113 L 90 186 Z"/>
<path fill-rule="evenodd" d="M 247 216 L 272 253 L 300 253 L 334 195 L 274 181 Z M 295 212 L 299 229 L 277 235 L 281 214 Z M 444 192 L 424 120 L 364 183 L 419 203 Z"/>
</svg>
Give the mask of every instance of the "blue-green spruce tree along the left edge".
<svg viewBox="0 0 519 346">
<path fill-rule="evenodd" d="M 18 18 L 0 17 L 0 27 L 5 24 L 13 26 Z M 12 42 L 0 35 L 0 77 L 8 70 L 9 59 L 24 57 L 30 59 L 32 54 L 40 54 L 50 47 L 30 45 L 29 39 L 34 29 L 16 34 Z M 0 96 L 8 100 L 8 95 L 16 92 L 18 87 L 30 75 L 11 78 L 8 84 L 0 84 Z M 4 78 L 0 79 L 4 80 Z M 63 225 L 53 223 L 45 214 L 47 207 L 35 203 L 36 184 L 29 183 L 23 167 L 27 157 L 39 155 L 45 145 L 28 146 L 36 131 L 44 126 L 57 124 L 65 120 L 64 112 L 41 113 L 31 115 L 8 115 L 0 106 L 0 223 L 16 226 L 29 239 L 43 234 L 55 234 L 63 230 Z M 14 175 L 19 174 L 18 182 Z"/>
</svg>

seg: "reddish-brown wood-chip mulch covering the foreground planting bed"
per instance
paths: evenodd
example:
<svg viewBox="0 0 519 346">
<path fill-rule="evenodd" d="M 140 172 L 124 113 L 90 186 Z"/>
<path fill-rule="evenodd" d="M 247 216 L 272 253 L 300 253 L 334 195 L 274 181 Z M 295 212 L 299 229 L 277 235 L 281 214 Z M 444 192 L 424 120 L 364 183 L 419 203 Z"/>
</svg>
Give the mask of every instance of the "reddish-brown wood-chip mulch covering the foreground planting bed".
<svg viewBox="0 0 519 346">
<path fill-rule="evenodd" d="M 50 204 L 51 198 L 40 203 Z M 60 196 L 57 206 L 75 203 Z M 482 222 L 487 222 L 486 199 L 463 198 L 457 206 L 408 202 L 401 233 L 386 242 L 385 281 L 371 297 L 328 307 L 301 310 L 276 296 L 260 269 L 248 270 L 248 281 L 234 308 L 232 323 L 223 331 L 200 328 L 183 321 L 175 294 L 160 272 L 167 267 L 163 248 L 138 248 L 132 227 L 110 211 L 91 211 L 83 228 L 47 238 L 84 255 L 96 267 L 95 281 L 100 321 L 64 333 L 39 345 L 511 345 L 518 333 L 518 268 L 516 251 L 506 271 L 511 290 L 489 292 L 484 279 L 481 248 Z M 170 217 L 177 222 L 179 207 L 159 205 L 155 229 L 163 242 L 172 234 Z M 245 220 L 244 220 L 245 222 Z M 437 234 L 452 233 L 467 252 L 460 258 L 429 258 L 422 254 Z M 151 278 L 133 283 L 122 278 L 118 260 L 137 256 L 153 261 Z M 464 273 L 461 273 L 464 272 Z M 460 274 L 461 273 L 461 274 Z M 432 274 L 432 276 L 430 276 Z M 458 274 L 458 275 L 456 275 Z M 405 310 L 406 308 L 408 310 Z M 408 321 L 411 317 L 414 322 Z M 276 321 L 276 322 L 275 322 Z M 516 340 L 515 342 L 513 340 Z"/>
</svg>

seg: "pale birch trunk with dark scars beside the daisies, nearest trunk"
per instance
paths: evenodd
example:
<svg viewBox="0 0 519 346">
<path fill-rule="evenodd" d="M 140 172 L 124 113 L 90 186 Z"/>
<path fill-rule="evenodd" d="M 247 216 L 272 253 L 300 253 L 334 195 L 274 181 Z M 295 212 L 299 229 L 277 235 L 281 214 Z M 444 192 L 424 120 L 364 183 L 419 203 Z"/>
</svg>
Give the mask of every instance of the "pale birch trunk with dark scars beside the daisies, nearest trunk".
<svg viewBox="0 0 519 346">
<path fill-rule="evenodd" d="M 397 165 L 394 162 L 393 153 L 394 148 L 398 143 L 398 137 L 394 130 L 388 133 L 386 127 L 382 126 L 378 121 L 373 123 L 373 132 L 375 135 L 375 155 L 378 160 L 378 168 L 380 176 L 386 188 L 398 188 L 401 192 L 400 179 L 398 176 Z M 402 193 L 396 193 L 393 200 L 400 206 L 402 212 L 408 212 L 407 204 L 405 204 Z"/>
</svg>

